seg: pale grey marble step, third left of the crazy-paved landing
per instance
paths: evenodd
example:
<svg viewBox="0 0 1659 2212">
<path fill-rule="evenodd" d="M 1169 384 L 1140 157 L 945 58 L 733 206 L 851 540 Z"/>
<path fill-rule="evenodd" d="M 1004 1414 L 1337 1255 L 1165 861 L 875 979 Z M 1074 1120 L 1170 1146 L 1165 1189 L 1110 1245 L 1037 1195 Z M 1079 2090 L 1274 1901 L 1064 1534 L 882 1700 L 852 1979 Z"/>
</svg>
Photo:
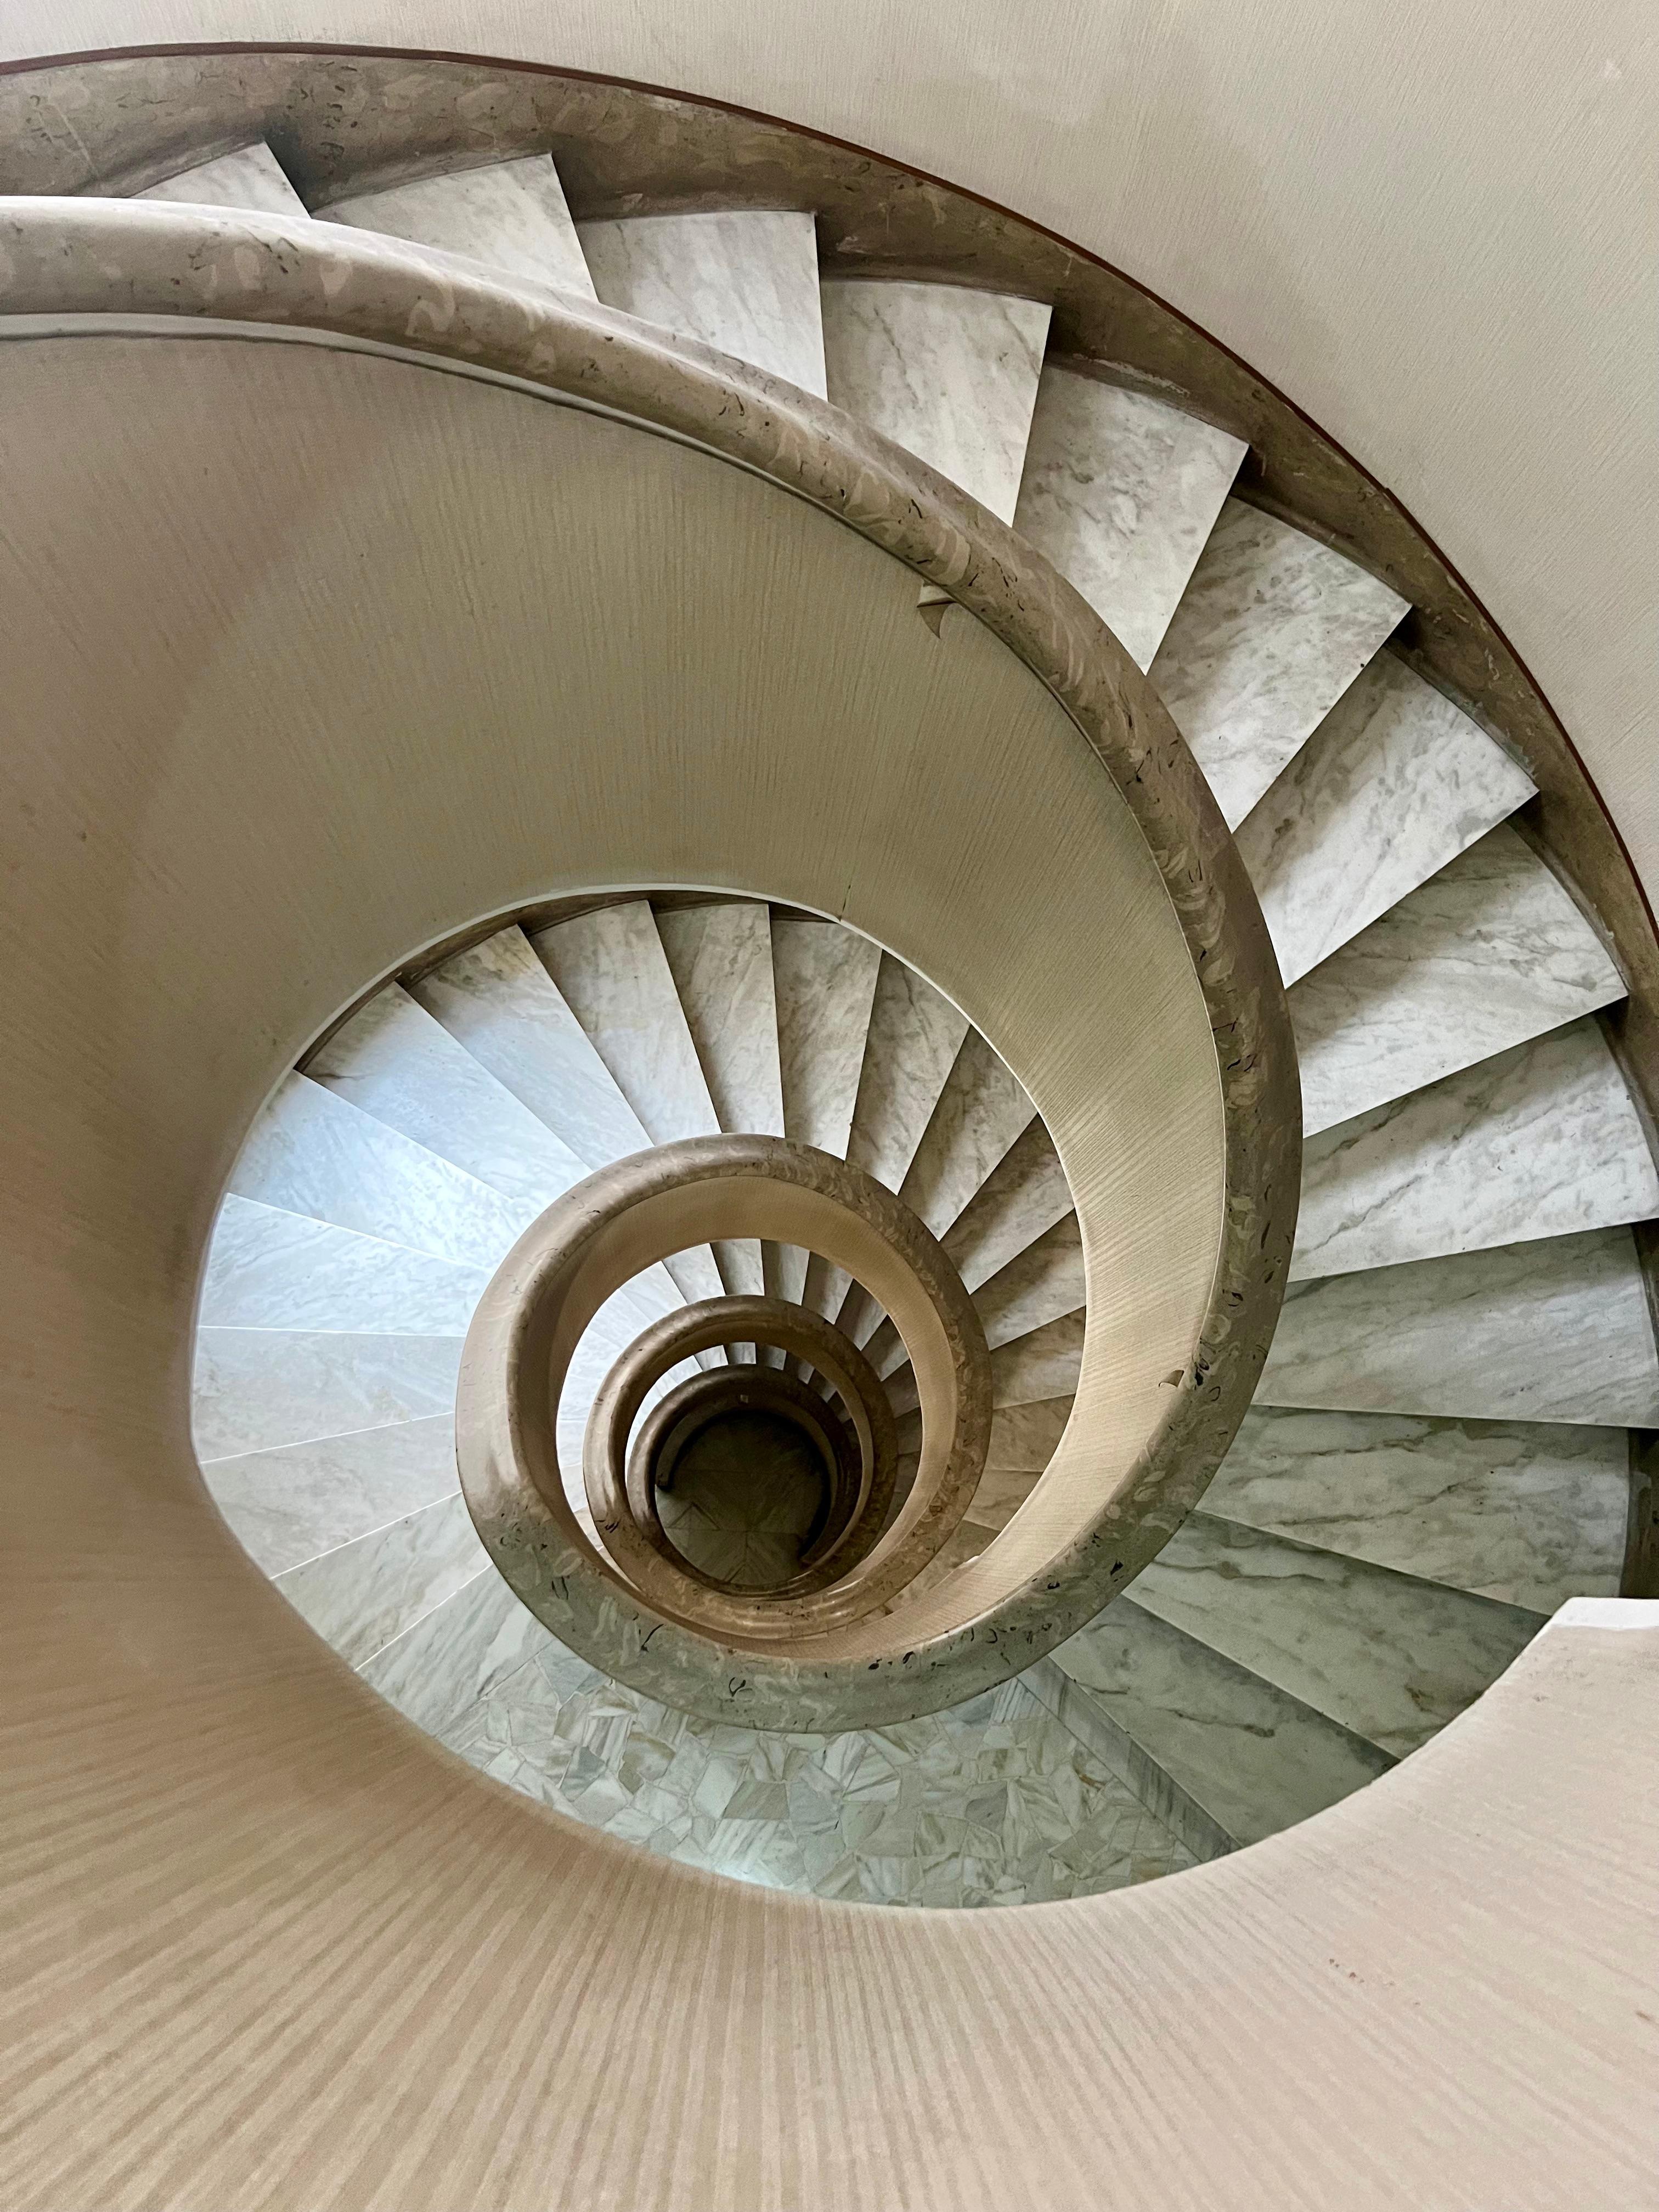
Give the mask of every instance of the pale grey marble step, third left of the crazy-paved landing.
<svg viewBox="0 0 1659 2212">
<path fill-rule="evenodd" d="M 456 1495 L 451 1413 L 212 1460 L 215 1504 L 268 1575 Z"/>
</svg>

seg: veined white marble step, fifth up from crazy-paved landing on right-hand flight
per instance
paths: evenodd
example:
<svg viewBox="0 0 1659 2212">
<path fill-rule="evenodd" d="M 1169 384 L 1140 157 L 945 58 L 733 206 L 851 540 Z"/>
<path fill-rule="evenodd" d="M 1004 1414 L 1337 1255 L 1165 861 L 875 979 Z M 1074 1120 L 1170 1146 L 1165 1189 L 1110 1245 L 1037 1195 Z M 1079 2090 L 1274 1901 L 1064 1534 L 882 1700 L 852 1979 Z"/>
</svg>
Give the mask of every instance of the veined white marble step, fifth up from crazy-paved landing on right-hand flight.
<svg viewBox="0 0 1659 2212">
<path fill-rule="evenodd" d="M 1659 1172 L 1595 1020 L 1444 1075 L 1303 1150 L 1292 1279 L 1394 1267 L 1659 1212 Z"/>
</svg>

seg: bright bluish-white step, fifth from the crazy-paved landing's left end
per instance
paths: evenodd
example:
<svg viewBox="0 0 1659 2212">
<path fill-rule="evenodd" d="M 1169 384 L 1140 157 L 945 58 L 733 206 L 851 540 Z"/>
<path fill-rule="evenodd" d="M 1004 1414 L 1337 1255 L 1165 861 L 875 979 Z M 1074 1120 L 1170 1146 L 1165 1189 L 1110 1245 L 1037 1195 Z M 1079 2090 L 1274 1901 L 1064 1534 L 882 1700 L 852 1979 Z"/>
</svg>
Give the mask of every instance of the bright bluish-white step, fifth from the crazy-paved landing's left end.
<svg viewBox="0 0 1659 2212">
<path fill-rule="evenodd" d="M 487 1283 L 482 1267 L 232 1194 L 208 1245 L 199 1318 L 226 1329 L 465 1336 Z"/>
</svg>

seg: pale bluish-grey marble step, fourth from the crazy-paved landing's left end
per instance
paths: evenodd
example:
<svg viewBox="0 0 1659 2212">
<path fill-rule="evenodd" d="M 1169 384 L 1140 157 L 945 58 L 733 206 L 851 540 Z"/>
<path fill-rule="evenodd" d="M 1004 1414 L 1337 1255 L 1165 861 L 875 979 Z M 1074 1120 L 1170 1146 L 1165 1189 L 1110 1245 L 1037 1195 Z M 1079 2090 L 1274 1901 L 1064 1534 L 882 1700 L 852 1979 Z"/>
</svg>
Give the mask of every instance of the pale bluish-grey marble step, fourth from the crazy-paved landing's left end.
<svg viewBox="0 0 1659 2212">
<path fill-rule="evenodd" d="M 272 1444 L 449 1413 L 460 1345 L 460 1336 L 197 1329 L 197 1458 L 206 1467 Z"/>
</svg>

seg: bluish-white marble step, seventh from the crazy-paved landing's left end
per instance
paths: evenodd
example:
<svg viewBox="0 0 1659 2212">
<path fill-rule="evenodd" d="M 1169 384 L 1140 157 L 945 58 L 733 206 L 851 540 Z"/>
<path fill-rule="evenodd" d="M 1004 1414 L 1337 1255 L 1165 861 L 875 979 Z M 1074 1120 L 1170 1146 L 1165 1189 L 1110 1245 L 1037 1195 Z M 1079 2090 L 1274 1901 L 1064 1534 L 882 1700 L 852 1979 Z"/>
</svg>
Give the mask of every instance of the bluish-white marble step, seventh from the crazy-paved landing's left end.
<svg viewBox="0 0 1659 2212">
<path fill-rule="evenodd" d="M 398 984 L 336 1029 L 305 1073 L 529 1208 L 529 1219 L 588 1175 L 586 1161 Z"/>
</svg>

